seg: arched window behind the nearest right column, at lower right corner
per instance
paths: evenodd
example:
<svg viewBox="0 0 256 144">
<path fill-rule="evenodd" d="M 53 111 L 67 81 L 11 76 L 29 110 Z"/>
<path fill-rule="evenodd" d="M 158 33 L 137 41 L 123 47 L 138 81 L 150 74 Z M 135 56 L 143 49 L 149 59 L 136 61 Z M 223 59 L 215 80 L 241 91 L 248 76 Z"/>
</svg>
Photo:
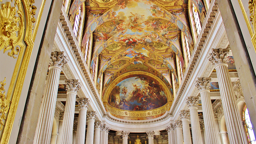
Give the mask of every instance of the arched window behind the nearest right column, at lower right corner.
<svg viewBox="0 0 256 144">
<path fill-rule="evenodd" d="M 246 104 L 244 104 L 244 108 L 243 108 L 243 121 L 244 121 L 245 132 L 246 132 L 246 136 L 249 144 L 256 144 L 254 132 L 252 130 L 252 123 L 250 120 L 250 116 L 249 116 Z"/>
</svg>

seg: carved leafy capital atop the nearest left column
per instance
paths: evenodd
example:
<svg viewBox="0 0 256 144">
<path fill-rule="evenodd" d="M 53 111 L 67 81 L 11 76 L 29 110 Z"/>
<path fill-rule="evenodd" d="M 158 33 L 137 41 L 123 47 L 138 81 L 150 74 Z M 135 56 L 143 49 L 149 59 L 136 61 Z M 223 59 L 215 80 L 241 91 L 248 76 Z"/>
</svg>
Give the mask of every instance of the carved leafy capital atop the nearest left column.
<svg viewBox="0 0 256 144">
<path fill-rule="evenodd" d="M 64 56 L 63 53 L 64 52 L 52 52 L 49 64 L 50 67 L 56 66 L 62 68 L 68 62 L 66 56 Z"/>
</svg>

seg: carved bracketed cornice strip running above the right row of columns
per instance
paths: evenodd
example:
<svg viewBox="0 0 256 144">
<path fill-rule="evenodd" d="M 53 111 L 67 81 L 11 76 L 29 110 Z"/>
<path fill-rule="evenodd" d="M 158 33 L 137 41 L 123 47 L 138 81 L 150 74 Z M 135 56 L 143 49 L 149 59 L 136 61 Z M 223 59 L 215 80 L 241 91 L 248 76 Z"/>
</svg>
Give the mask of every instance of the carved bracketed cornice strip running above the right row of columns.
<svg viewBox="0 0 256 144">
<path fill-rule="evenodd" d="M 207 20 L 207 23 L 203 25 L 202 27 L 202 30 L 203 33 L 200 33 L 200 35 L 198 36 L 198 42 L 195 46 L 195 49 L 194 49 L 194 52 L 191 56 L 191 63 L 189 63 L 188 67 L 187 67 L 187 70 L 183 76 L 183 80 L 180 84 L 180 88 L 179 90 L 177 91 L 177 94 L 176 94 L 176 99 L 173 101 L 173 107 L 171 108 L 170 110 L 170 114 L 173 115 L 173 112 L 175 110 L 175 108 L 177 107 L 177 104 L 180 100 L 180 97 L 185 89 L 185 86 L 187 85 L 188 83 L 188 79 L 193 71 L 193 68 L 194 66 L 196 65 L 196 62 L 198 60 L 198 57 L 200 56 L 200 52 L 201 52 L 201 49 L 203 48 L 203 45 L 204 45 L 204 42 L 205 40 L 207 39 L 207 36 L 209 34 L 209 31 L 211 30 L 211 26 L 212 24 L 215 22 L 215 15 L 217 15 L 220 10 L 219 10 L 219 7 L 218 7 L 218 4 L 217 4 L 217 1 L 212 1 L 212 3 L 214 3 L 212 5 L 212 9 L 208 10 L 207 12 L 207 16 L 205 18 L 205 21 Z"/>
</svg>

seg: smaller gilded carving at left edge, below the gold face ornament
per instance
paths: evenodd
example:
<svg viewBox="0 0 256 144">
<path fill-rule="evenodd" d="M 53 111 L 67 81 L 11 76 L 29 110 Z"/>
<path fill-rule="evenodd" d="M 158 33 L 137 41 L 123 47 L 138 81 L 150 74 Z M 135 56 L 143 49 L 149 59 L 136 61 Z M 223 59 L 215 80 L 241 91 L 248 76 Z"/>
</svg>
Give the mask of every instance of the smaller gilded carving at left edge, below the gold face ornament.
<svg viewBox="0 0 256 144">
<path fill-rule="evenodd" d="M 0 116 L 0 130 L 3 130 L 4 128 L 4 122 L 3 120 L 6 120 L 6 116 L 5 114 L 7 113 L 8 109 L 9 109 L 9 104 L 11 103 L 10 100 L 6 100 L 5 98 L 5 92 L 2 93 L 3 91 L 5 91 L 4 86 L 5 86 L 5 77 L 4 80 L 2 82 L 0 82 L 1 87 L 0 87 L 0 114 L 2 114 Z"/>
</svg>

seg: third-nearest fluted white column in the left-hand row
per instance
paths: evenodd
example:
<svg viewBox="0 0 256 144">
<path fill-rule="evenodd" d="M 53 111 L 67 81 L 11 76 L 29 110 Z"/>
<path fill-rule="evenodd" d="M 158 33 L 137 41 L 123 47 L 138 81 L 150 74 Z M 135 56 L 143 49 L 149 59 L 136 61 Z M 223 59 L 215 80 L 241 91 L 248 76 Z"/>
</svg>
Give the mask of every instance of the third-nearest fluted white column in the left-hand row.
<svg viewBox="0 0 256 144">
<path fill-rule="evenodd" d="M 76 134 L 76 143 L 84 144 L 85 141 L 85 128 L 86 128 L 86 113 L 90 105 L 90 101 L 87 98 L 81 98 L 78 100 L 78 122 L 77 122 L 77 134 Z"/>
</svg>

